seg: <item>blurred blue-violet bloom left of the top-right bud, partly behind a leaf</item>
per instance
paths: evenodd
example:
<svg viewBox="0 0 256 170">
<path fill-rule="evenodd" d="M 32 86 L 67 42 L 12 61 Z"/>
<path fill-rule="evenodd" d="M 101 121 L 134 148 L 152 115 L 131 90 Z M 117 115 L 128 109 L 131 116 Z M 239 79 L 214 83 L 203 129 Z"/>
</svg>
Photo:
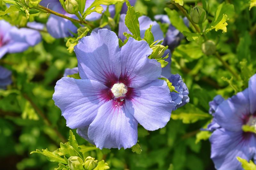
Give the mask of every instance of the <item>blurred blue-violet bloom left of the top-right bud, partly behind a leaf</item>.
<svg viewBox="0 0 256 170">
<path fill-rule="evenodd" d="M 165 34 L 163 45 L 169 46 L 169 48 L 173 50 L 180 44 L 180 41 L 184 38 L 183 34 L 180 33 L 180 31 L 177 30 L 174 26 L 172 26 L 170 19 L 167 15 L 156 15 L 155 19 L 162 23 L 170 24 Z M 183 18 L 183 21 L 187 26 L 189 26 L 188 18 Z"/>
</svg>

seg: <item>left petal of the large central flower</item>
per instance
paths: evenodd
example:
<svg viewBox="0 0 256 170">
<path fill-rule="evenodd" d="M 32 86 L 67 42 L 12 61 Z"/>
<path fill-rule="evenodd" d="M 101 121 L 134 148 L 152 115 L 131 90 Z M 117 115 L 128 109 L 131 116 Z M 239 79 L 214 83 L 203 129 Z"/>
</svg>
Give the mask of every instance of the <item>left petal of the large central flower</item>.
<svg viewBox="0 0 256 170">
<path fill-rule="evenodd" d="M 63 77 L 56 83 L 52 99 L 67 120 L 67 126 L 75 129 L 93 121 L 105 101 L 102 93 L 106 89 L 97 81 Z"/>
</svg>

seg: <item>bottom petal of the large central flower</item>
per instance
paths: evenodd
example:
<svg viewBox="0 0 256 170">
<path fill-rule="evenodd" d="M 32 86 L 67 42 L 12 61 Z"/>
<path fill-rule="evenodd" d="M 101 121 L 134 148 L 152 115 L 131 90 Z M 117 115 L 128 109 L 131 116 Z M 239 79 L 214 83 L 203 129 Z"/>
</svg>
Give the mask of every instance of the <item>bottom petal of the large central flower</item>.
<svg viewBox="0 0 256 170">
<path fill-rule="evenodd" d="M 92 124 L 88 137 L 102 148 L 131 148 L 138 140 L 138 122 L 126 106 L 115 107 L 114 100 L 104 103 Z"/>
</svg>

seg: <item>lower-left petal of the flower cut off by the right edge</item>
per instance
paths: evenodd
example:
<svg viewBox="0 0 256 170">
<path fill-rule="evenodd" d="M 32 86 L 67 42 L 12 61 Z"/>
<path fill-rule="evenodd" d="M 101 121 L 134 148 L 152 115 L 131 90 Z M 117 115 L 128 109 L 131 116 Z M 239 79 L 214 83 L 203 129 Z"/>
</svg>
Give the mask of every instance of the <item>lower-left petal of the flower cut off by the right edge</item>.
<svg viewBox="0 0 256 170">
<path fill-rule="evenodd" d="M 236 157 L 239 156 L 247 161 L 253 158 L 254 153 L 249 149 L 249 141 L 243 140 L 242 130 L 231 132 L 223 128 L 216 129 L 210 137 L 210 142 L 212 144 L 211 158 L 218 170 L 243 170 Z"/>
</svg>

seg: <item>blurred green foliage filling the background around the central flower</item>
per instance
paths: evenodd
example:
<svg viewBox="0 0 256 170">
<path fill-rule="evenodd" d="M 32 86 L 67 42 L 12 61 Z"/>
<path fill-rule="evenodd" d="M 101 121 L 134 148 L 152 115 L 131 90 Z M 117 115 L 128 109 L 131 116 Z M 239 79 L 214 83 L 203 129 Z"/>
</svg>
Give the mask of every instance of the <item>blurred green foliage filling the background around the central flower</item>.
<svg viewBox="0 0 256 170">
<path fill-rule="evenodd" d="M 184 0 L 184 8 L 189 10 L 196 2 Z M 171 69 L 172 74 L 179 73 L 188 86 L 190 102 L 172 112 L 170 122 L 163 129 L 149 132 L 138 127 L 140 154 L 132 149 L 101 151 L 73 130 L 84 156 L 104 159 L 113 170 L 214 169 L 208 141 L 211 133 L 200 130 L 212 119 L 208 103 L 217 94 L 228 98 L 246 88 L 256 64 L 256 8 L 249 11 L 249 0 L 209 0 L 209 21 L 223 2 L 233 4 L 227 21 L 228 32 L 212 30 L 206 36 L 216 43 L 220 57 L 239 78 L 217 57 L 202 52 L 202 38 L 191 42 L 183 39 L 172 51 Z M 0 7 L 3 11 L 3 4 Z M 136 11 L 152 20 L 156 14 L 166 13 L 165 7 L 179 11 L 166 0 L 138 0 L 135 4 Z M 180 11 L 179 14 L 183 16 Z M 24 17 L 21 12 L 2 16 L 19 26 L 26 22 Z M 30 15 L 29 20 L 46 23 L 47 17 L 47 14 L 37 13 Z M 167 27 L 164 24 L 161 27 L 166 32 Z M 7 54 L 0 60 L 1 66 L 12 70 L 13 80 L 7 90 L 0 90 L 1 169 L 54 169 L 57 163 L 49 162 L 40 154 L 30 155 L 30 152 L 41 148 L 54 151 L 60 142 L 67 142 L 69 136 L 69 128 L 60 109 L 54 105 L 52 94 L 64 70 L 77 66 L 76 56 L 67 51 L 67 40 L 54 39 L 45 32 L 41 34 L 43 41 L 35 47 L 23 53 Z"/>
</svg>

